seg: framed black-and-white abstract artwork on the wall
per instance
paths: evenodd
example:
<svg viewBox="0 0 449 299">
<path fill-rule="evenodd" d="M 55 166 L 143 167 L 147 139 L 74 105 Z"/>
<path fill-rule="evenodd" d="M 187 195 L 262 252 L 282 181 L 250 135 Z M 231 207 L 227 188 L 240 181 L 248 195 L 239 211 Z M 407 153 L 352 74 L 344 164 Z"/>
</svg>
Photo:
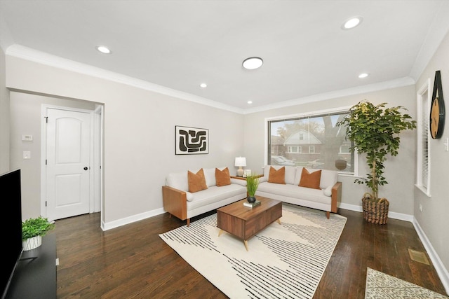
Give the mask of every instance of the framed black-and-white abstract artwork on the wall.
<svg viewBox="0 0 449 299">
<path fill-rule="evenodd" d="M 175 146 L 176 155 L 209 153 L 209 130 L 176 125 Z"/>
</svg>

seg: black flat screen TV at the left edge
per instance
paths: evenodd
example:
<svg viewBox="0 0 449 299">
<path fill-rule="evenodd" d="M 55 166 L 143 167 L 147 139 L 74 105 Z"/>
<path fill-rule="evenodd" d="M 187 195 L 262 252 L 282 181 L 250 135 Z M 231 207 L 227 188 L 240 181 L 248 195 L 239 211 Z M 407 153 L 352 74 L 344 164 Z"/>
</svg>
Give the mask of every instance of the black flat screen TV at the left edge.
<svg viewBox="0 0 449 299">
<path fill-rule="evenodd" d="M 1 232 L 2 242 L 2 265 L 0 267 L 1 298 L 6 297 L 8 286 L 13 278 L 15 267 L 17 267 L 22 256 L 22 190 L 20 184 L 20 169 L 0 175 L 1 205 L 3 211 L 9 215 L 10 225 Z"/>
</svg>

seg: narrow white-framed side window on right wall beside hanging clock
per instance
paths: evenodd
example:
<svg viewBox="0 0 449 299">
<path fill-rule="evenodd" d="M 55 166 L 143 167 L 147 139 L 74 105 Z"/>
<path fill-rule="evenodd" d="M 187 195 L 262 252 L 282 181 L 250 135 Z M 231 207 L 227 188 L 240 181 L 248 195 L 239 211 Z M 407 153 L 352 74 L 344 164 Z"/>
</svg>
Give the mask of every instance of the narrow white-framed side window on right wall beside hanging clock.
<svg viewBox="0 0 449 299">
<path fill-rule="evenodd" d="M 417 91 L 417 159 L 416 159 L 416 183 L 415 186 L 428 197 L 430 195 L 430 134 L 429 134 L 429 111 L 431 105 L 430 79 Z M 424 142 L 427 140 L 427 153 L 425 153 Z M 427 155 L 427 156 L 424 156 Z M 427 164 L 427 165 L 426 165 Z M 426 173 L 427 172 L 427 173 Z"/>
</svg>

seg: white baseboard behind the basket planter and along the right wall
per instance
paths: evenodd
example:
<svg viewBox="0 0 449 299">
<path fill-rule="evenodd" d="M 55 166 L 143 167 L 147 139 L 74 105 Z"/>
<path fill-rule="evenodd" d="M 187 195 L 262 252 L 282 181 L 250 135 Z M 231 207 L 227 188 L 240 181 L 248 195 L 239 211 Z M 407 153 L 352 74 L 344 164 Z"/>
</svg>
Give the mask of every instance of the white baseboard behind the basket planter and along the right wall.
<svg viewBox="0 0 449 299">
<path fill-rule="evenodd" d="M 363 209 L 361 206 L 355 205 L 355 204 L 344 204 L 341 203 L 340 207 L 341 209 L 347 209 L 350 211 L 359 211 L 362 212 Z M 413 215 L 407 215 L 407 214 L 401 214 L 401 213 L 394 213 L 389 211 L 388 212 L 388 218 L 392 219 L 398 219 L 403 221 L 409 221 L 413 223 L 413 226 L 415 227 L 415 230 L 417 232 L 418 237 L 420 237 L 420 240 L 422 244 L 424 245 L 424 248 L 427 251 L 427 254 L 429 255 L 432 264 L 435 267 L 436 273 L 438 273 L 438 277 L 441 280 L 441 283 L 443 284 L 446 293 L 449 294 L 449 272 L 444 267 L 443 263 L 441 262 L 440 257 L 438 256 L 438 253 L 436 253 L 434 247 L 429 242 L 429 239 L 427 238 L 427 235 L 422 230 L 420 223 L 417 222 L 415 216 Z"/>
</svg>

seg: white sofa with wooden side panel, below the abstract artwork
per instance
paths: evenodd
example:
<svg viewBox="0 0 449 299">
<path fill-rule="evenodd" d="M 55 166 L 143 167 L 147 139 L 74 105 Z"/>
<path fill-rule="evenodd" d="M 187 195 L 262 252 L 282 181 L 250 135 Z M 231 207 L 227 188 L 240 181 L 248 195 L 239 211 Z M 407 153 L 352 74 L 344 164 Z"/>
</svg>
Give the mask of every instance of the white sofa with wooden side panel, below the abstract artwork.
<svg viewBox="0 0 449 299">
<path fill-rule="evenodd" d="M 191 172 L 196 173 L 198 170 L 191 170 Z M 207 186 L 205 190 L 189 192 L 187 170 L 168 174 L 166 186 L 162 186 L 163 208 L 170 213 L 170 216 L 187 220 L 187 226 L 190 224 L 190 218 L 194 216 L 246 198 L 245 180 L 230 178 L 231 184 L 217 186 L 215 168 L 203 168 L 203 172 Z"/>
</svg>

